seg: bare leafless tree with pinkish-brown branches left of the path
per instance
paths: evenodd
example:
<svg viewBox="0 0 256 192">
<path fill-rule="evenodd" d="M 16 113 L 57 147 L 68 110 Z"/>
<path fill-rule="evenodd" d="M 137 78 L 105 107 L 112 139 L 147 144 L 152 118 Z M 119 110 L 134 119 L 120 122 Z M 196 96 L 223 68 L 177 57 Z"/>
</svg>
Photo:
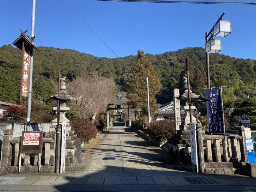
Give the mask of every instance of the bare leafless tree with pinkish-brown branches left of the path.
<svg viewBox="0 0 256 192">
<path fill-rule="evenodd" d="M 77 77 L 67 86 L 68 93 L 74 96 L 72 110 L 78 117 L 92 118 L 94 123 L 97 114 L 103 112 L 113 99 L 115 86 L 112 79 L 96 74 Z"/>
</svg>

